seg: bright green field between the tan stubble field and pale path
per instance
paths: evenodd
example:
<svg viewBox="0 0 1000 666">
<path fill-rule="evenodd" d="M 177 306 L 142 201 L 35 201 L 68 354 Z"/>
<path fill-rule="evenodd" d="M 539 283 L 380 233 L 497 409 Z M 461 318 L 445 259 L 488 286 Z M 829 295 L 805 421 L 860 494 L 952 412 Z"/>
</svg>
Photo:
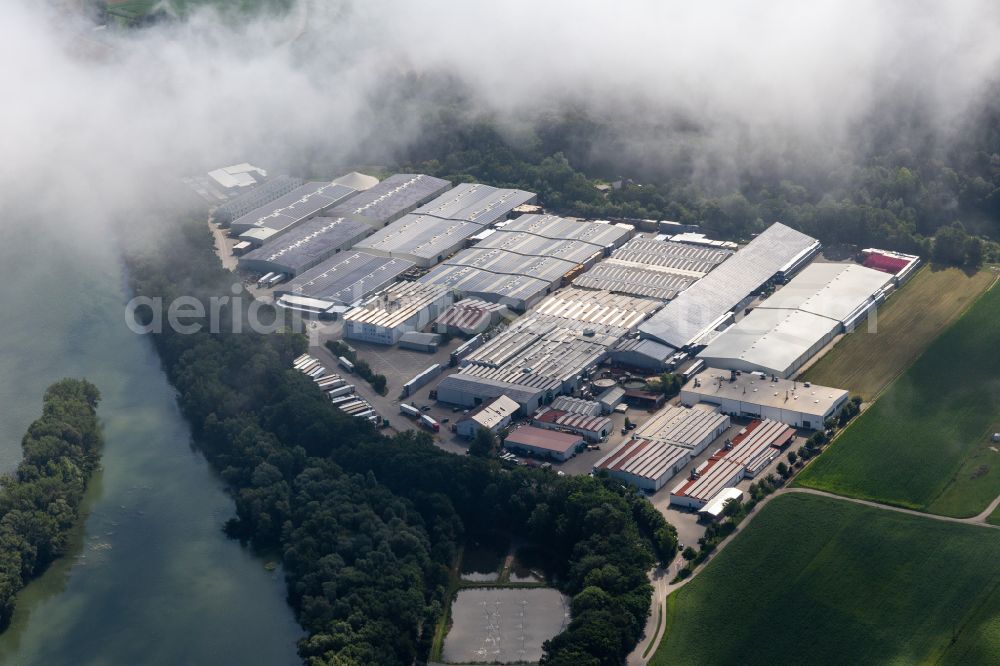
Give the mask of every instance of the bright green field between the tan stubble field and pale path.
<svg viewBox="0 0 1000 666">
<path fill-rule="evenodd" d="M 1000 288 L 903 373 L 797 484 L 947 516 L 1000 495 Z"/>
</svg>

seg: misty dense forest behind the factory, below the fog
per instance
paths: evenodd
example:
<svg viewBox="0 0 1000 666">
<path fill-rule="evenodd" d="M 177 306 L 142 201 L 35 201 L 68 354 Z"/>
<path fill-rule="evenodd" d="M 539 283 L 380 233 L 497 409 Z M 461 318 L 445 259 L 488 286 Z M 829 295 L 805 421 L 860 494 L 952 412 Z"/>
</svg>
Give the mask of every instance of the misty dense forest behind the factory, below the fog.
<svg viewBox="0 0 1000 666">
<path fill-rule="evenodd" d="M 453 79 L 394 84 L 373 103 L 387 117 L 369 121 L 376 129 L 359 160 L 404 123 L 397 116 L 418 108 L 417 138 L 388 159 L 454 181 L 528 189 L 553 212 L 699 224 L 733 240 L 780 221 L 828 246 L 878 246 L 957 265 L 1000 260 L 1000 97 L 975 105 L 946 137 L 919 107 L 887 101 L 882 115 L 858 123 L 848 148 L 824 157 L 748 138 L 765 157 L 741 162 L 747 148 L 733 145 L 733 164 L 720 175 L 699 171 L 698 162 L 727 156 L 708 145 L 712 128 L 693 120 L 660 126 L 628 112 L 599 115 L 581 102 L 515 123 L 475 111 L 474 96 Z M 637 149 L 643 139 L 662 152 Z"/>
</svg>

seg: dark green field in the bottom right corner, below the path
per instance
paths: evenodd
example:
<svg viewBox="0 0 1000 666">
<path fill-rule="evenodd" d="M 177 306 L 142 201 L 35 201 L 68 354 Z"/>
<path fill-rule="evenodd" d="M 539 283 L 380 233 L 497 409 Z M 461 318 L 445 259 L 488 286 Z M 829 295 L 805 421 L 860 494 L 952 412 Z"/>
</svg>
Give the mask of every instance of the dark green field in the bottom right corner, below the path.
<svg viewBox="0 0 1000 666">
<path fill-rule="evenodd" d="M 1000 530 L 776 497 L 669 600 L 650 662 L 1000 663 Z"/>
</svg>

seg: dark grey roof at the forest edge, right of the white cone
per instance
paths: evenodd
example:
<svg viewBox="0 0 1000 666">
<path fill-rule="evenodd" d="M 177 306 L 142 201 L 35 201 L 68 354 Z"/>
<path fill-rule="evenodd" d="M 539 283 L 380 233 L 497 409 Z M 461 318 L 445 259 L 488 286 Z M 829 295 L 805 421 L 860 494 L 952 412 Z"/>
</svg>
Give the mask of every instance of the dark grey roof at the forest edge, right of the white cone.
<svg viewBox="0 0 1000 666">
<path fill-rule="evenodd" d="M 397 173 L 338 205 L 331 214 L 358 217 L 373 227 L 381 228 L 449 187 L 451 183 L 433 176 Z"/>
</svg>

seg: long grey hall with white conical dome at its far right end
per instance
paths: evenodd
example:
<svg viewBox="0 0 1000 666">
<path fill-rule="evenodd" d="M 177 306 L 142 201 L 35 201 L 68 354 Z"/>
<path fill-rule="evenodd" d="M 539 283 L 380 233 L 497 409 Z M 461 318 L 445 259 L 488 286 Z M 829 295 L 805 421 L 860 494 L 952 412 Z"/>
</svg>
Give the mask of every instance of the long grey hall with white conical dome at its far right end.
<svg viewBox="0 0 1000 666">
<path fill-rule="evenodd" d="M 263 245 L 355 193 L 354 189 L 336 183 L 306 183 L 233 220 L 230 233 L 240 240 Z"/>
</svg>

